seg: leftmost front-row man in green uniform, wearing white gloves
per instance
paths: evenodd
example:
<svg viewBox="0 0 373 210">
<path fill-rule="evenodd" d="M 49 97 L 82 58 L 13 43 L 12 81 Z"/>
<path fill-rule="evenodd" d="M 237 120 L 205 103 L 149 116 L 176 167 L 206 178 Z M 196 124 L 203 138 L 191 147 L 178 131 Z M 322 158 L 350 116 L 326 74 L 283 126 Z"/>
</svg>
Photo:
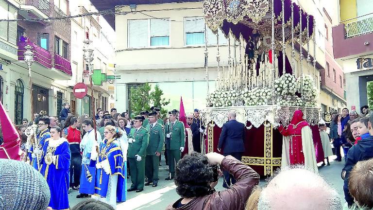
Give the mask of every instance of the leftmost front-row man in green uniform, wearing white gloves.
<svg viewBox="0 0 373 210">
<path fill-rule="evenodd" d="M 149 142 L 149 131 L 142 127 L 145 118 L 137 115 L 134 120 L 134 128 L 128 136 L 127 159 L 131 171 L 131 188 L 128 192 L 141 192 L 144 189 L 145 179 L 145 156 Z"/>
</svg>

